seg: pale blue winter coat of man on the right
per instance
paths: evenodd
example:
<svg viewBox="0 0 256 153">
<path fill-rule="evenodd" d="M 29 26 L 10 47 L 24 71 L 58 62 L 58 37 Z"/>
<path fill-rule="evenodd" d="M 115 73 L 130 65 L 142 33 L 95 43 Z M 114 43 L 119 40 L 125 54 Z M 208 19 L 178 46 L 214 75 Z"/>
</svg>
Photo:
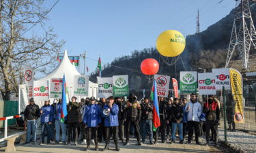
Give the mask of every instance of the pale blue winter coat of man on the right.
<svg viewBox="0 0 256 153">
<path fill-rule="evenodd" d="M 187 109 L 188 105 L 190 107 L 189 110 Z M 189 101 L 188 103 L 186 103 L 185 109 L 186 112 L 188 113 L 188 121 L 199 122 L 199 117 L 202 114 L 202 106 L 198 101 L 196 101 L 195 103 Z"/>
</svg>

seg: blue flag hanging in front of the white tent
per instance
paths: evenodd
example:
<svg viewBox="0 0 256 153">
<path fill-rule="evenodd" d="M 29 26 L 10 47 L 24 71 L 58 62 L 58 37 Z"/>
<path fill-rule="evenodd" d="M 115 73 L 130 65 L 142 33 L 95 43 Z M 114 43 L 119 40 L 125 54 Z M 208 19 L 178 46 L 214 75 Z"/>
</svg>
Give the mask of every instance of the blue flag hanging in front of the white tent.
<svg viewBox="0 0 256 153">
<path fill-rule="evenodd" d="M 68 115 L 67 112 L 67 103 L 68 103 L 68 90 L 65 80 L 65 74 L 63 75 L 62 80 L 62 107 L 61 107 L 61 122 L 65 121 L 65 117 Z"/>
</svg>

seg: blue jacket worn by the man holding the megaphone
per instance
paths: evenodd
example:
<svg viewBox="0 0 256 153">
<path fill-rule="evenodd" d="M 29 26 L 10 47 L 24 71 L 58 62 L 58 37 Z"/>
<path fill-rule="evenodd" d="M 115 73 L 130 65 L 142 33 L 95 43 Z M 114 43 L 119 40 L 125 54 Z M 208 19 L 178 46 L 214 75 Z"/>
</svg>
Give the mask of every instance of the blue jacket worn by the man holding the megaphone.
<svg viewBox="0 0 256 153">
<path fill-rule="evenodd" d="M 104 109 L 110 109 L 109 116 L 105 116 L 103 114 Z M 102 116 L 104 117 L 104 126 L 118 126 L 118 112 L 119 108 L 117 104 L 113 104 L 112 108 L 109 107 L 109 105 L 104 105 L 102 109 Z"/>
</svg>

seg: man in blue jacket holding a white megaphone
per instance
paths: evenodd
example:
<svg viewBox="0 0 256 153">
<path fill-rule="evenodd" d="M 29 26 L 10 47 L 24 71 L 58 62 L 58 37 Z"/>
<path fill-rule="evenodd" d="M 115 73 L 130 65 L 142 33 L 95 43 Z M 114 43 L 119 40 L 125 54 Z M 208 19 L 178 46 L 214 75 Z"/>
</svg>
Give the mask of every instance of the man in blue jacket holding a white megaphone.
<svg viewBox="0 0 256 153">
<path fill-rule="evenodd" d="M 113 96 L 108 98 L 109 103 L 104 105 L 102 116 L 104 117 L 104 125 L 106 131 L 106 146 L 103 150 L 109 150 L 109 133 L 113 133 L 113 139 L 115 142 L 115 150 L 119 151 L 118 142 L 118 105 L 114 103 L 115 99 Z"/>
</svg>

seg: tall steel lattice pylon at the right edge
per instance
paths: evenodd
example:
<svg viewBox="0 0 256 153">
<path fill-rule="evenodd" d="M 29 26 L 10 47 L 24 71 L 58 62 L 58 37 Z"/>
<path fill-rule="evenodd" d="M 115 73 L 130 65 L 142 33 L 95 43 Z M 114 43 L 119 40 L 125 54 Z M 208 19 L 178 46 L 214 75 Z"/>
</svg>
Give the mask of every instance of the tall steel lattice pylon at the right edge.
<svg viewBox="0 0 256 153">
<path fill-rule="evenodd" d="M 236 10 L 225 67 L 229 66 L 233 52 L 238 50 L 243 67 L 248 70 L 250 48 L 253 46 L 256 49 L 255 43 L 256 32 L 251 18 L 249 0 L 236 0 Z"/>
</svg>

